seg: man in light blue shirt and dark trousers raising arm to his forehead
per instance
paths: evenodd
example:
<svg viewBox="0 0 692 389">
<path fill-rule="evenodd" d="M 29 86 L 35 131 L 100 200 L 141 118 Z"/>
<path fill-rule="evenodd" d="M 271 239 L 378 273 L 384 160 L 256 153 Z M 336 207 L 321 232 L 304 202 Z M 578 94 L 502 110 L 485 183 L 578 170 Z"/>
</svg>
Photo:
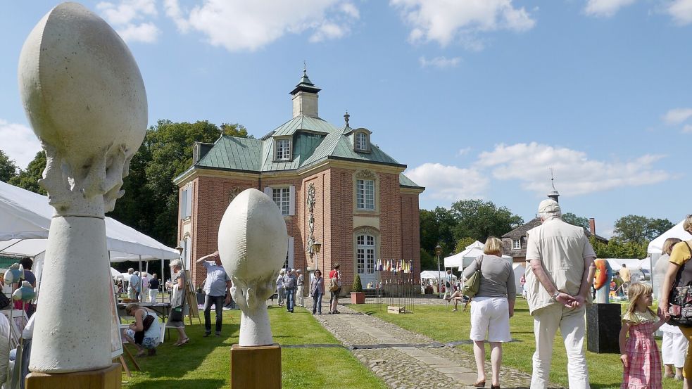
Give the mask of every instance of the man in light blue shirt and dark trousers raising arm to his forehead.
<svg viewBox="0 0 692 389">
<path fill-rule="evenodd" d="M 223 269 L 218 250 L 199 258 L 197 263 L 201 263 L 207 270 L 207 278 L 204 281 L 204 337 L 211 335 L 212 304 L 216 310 L 216 336 L 221 336 L 223 306 L 231 302 L 231 279 Z"/>
</svg>

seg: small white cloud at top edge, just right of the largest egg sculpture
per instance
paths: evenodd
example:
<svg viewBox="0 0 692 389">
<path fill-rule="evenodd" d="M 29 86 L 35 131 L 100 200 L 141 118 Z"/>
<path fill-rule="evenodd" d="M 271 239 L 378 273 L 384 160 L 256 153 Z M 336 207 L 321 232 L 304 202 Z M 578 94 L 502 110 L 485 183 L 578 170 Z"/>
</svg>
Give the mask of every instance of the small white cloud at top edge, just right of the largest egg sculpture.
<svg viewBox="0 0 692 389">
<path fill-rule="evenodd" d="M 125 42 L 153 43 L 161 33 L 151 21 L 144 21 L 158 15 L 156 0 L 122 0 L 119 4 L 102 1 L 96 9 Z"/>
</svg>

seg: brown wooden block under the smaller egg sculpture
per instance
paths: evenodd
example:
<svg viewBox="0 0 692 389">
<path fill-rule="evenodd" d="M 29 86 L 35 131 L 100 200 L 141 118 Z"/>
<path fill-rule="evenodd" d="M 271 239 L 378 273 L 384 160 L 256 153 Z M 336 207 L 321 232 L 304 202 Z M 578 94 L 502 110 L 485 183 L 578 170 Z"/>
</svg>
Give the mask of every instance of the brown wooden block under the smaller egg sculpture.
<svg viewBox="0 0 692 389">
<path fill-rule="evenodd" d="M 231 389 L 279 388 L 281 388 L 281 347 L 279 345 L 231 346 Z"/>
</svg>

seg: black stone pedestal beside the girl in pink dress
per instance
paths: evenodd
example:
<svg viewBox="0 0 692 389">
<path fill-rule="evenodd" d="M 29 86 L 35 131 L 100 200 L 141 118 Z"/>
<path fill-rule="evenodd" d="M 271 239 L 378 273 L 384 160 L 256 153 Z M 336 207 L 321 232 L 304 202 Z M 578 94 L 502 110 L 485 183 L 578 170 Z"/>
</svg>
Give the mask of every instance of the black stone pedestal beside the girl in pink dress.
<svg viewBox="0 0 692 389">
<path fill-rule="evenodd" d="M 620 305 L 586 306 L 586 350 L 598 354 L 619 353 Z"/>
</svg>

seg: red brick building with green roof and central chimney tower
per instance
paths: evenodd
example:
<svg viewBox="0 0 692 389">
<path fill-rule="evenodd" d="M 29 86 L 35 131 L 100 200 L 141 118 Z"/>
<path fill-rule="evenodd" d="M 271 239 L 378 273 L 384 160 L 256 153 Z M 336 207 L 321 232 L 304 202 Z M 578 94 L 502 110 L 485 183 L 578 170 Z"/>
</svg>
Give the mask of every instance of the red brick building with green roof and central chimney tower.
<svg viewBox="0 0 692 389">
<path fill-rule="evenodd" d="M 284 215 L 289 235 L 284 267 L 311 272 L 341 264 L 344 292 L 356 273 L 363 287 L 382 260 L 412 260 L 420 274 L 418 196 L 406 165 L 372 144 L 369 129 L 336 127 L 317 115 L 319 88 L 303 71 L 291 91 L 293 117 L 260 139 L 222 136 L 194 145 L 193 164 L 174 179 L 180 188 L 178 238 L 186 268 L 217 249 L 230 201 L 248 188 L 264 191 Z M 320 253 L 314 253 L 320 243 Z M 192 267 L 190 267 L 193 265 Z"/>
</svg>

